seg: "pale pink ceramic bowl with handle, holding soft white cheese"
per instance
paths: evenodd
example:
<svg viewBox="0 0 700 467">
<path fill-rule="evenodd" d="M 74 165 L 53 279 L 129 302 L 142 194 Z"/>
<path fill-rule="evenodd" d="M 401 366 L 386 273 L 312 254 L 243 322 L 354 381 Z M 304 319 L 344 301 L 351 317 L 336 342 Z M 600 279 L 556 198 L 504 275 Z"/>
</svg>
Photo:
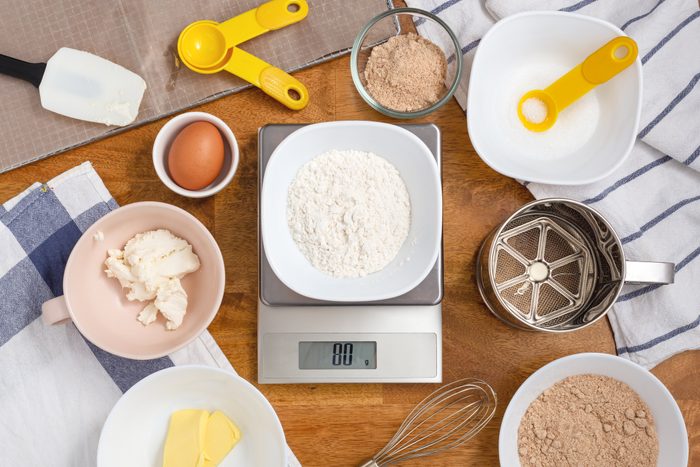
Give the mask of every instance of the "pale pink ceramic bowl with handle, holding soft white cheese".
<svg viewBox="0 0 700 467">
<path fill-rule="evenodd" d="M 199 256 L 199 270 L 182 279 L 187 314 L 174 331 L 160 314 L 148 326 L 136 320 L 146 302 L 130 302 L 117 279 L 104 272 L 107 250 L 122 249 L 137 233 L 168 229 L 184 238 Z M 95 238 L 102 232 L 103 240 Z M 63 293 L 42 306 L 48 324 L 72 320 L 93 344 L 125 358 L 162 357 L 192 342 L 212 322 L 224 296 L 224 260 L 214 237 L 188 212 L 165 203 L 141 202 L 121 207 L 95 222 L 71 252 Z"/>
</svg>

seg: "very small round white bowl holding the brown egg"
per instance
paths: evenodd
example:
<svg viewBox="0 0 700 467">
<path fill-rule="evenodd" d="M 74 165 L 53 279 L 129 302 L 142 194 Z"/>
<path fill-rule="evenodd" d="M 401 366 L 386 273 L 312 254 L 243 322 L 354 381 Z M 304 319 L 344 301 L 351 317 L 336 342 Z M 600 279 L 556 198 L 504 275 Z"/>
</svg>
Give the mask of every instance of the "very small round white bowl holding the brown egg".
<svg viewBox="0 0 700 467">
<path fill-rule="evenodd" d="M 216 180 L 209 186 L 201 190 L 187 190 L 175 183 L 168 173 L 168 153 L 170 145 L 175 140 L 175 137 L 190 123 L 194 122 L 209 122 L 216 126 L 224 139 L 224 166 Z M 238 142 L 233 135 L 233 131 L 223 120 L 206 112 L 186 112 L 177 117 L 171 118 L 156 135 L 156 140 L 153 142 L 153 167 L 156 169 L 158 178 L 175 193 L 186 196 L 188 198 L 206 198 L 212 196 L 228 185 L 233 179 L 233 175 L 238 168 Z"/>
</svg>

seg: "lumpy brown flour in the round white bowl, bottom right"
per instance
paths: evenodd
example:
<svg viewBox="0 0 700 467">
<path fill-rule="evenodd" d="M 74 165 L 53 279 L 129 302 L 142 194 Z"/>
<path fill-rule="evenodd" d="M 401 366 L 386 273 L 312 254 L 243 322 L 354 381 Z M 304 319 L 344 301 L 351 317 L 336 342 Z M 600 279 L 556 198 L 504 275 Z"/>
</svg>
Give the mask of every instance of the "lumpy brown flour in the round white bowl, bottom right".
<svg viewBox="0 0 700 467">
<path fill-rule="evenodd" d="M 518 429 L 523 466 L 654 467 L 659 441 L 649 407 L 607 376 L 566 378 L 535 399 Z"/>
</svg>

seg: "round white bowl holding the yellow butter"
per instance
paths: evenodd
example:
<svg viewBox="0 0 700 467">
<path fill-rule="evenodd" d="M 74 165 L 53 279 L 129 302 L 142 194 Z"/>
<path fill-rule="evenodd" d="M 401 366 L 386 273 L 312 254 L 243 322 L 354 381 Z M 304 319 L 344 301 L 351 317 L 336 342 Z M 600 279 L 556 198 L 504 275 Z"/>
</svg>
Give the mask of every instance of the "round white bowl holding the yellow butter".
<svg viewBox="0 0 700 467">
<path fill-rule="evenodd" d="M 241 430 L 221 467 L 286 465 L 282 425 L 265 396 L 231 372 L 191 365 L 161 370 L 124 393 L 102 428 L 97 466 L 160 467 L 170 414 L 193 408 L 221 410 Z"/>
</svg>

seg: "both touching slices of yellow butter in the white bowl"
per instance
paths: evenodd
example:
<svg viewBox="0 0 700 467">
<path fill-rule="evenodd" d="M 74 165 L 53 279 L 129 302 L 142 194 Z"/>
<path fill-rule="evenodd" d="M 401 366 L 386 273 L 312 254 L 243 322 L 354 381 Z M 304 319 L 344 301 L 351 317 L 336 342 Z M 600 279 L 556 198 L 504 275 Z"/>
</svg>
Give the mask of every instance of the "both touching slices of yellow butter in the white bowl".
<svg viewBox="0 0 700 467">
<path fill-rule="evenodd" d="M 240 439 L 240 430 L 223 412 L 178 410 L 170 416 L 163 467 L 216 467 Z"/>
</svg>

